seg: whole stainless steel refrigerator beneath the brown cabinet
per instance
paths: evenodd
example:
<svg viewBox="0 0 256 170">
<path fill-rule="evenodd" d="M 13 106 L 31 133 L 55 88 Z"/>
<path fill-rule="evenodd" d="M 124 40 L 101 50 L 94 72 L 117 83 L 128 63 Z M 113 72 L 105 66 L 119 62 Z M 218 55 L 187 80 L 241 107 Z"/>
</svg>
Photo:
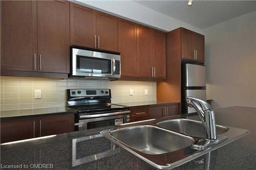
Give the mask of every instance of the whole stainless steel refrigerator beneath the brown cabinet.
<svg viewBox="0 0 256 170">
<path fill-rule="evenodd" d="M 199 64 L 182 64 L 182 113 L 194 113 L 194 108 L 187 106 L 187 96 L 206 101 L 206 67 Z"/>
</svg>

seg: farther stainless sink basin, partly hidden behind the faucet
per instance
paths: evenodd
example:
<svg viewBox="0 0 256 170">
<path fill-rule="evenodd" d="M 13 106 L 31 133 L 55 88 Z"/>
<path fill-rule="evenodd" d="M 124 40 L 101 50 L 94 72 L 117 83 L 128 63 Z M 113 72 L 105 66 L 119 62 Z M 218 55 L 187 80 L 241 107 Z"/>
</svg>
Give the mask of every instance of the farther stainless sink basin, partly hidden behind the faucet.
<svg viewBox="0 0 256 170">
<path fill-rule="evenodd" d="M 157 123 L 157 126 L 174 131 L 177 133 L 182 133 L 194 137 L 205 137 L 205 127 L 202 122 L 190 119 L 169 119 Z M 223 126 L 216 126 L 217 135 L 225 133 L 228 131 L 228 128 Z"/>
</svg>

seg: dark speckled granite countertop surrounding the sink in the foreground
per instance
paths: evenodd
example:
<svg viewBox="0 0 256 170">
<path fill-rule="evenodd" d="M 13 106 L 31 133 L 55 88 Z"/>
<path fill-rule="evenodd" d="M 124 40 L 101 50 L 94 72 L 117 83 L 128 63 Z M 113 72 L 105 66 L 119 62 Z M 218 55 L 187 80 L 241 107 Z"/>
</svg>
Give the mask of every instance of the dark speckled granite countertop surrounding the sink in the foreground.
<svg viewBox="0 0 256 170">
<path fill-rule="evenodd" d="M 174 116 L 177 118 L 180 116 Z M 195 114 L 184 118 L 199 119 Z M 174 169 L 256 169 L 256 108 L 216 110 L 216 123 L 243 128 L 251 134 Z M 104 129 L 109 129 L 108 127 Z M 155 169 L 130 152 L 101 137 L 102 129 L 1 145 L 2 165 L 53 164 L 54 169 Z"/>
</svg>

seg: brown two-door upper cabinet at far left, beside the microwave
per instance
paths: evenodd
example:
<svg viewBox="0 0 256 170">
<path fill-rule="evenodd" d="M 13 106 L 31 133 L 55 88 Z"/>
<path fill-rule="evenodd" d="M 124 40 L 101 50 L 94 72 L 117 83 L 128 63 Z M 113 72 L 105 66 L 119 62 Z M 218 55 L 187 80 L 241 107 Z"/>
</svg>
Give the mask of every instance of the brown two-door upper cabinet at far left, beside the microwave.
<svg viewBox="0 0 256 170">
<path fill-rule="evenodd" d="M 43 75 L 46 77 L 48 72 L 67 75 L 68 1 L 1 1 L 1 12 L 1 75 L 36 76 L 39 72 L 47 72 Z"/>
</svg>

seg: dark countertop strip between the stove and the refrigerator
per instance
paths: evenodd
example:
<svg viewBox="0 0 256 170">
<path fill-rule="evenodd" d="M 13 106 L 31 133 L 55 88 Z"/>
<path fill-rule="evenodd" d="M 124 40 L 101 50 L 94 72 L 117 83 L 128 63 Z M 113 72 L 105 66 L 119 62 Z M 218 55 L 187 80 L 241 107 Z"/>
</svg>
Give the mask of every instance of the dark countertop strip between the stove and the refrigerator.
<svg viewBox="0 0 256 170">
<path fill-rule="evenodd" d="M 167 104 L 179 104 L 180 102 L 162 102 L 162 101 L 146 101 L 146 102 L 125 102 L 114 103 L 115 105 L 136 107 L 136 106 L 155 106 L 155 105 L 167 105 Z"/>
</svg>

